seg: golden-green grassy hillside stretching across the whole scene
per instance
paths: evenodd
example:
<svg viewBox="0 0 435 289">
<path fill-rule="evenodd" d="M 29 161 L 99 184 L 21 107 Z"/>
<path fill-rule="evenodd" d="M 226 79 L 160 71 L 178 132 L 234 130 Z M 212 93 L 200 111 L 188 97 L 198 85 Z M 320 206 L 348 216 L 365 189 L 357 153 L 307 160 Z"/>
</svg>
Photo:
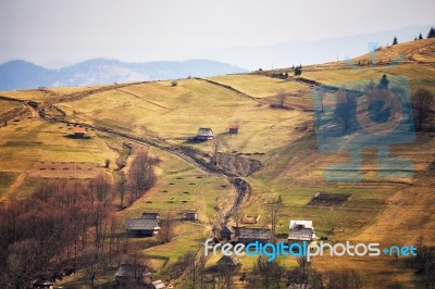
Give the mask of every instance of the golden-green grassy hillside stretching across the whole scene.
<svg viewBox="0 0 435 289">
<path fill-rule="evenodd" d="M 403 62 L 393 63 L 398 54 Z M 397 75 L 409 78 L 411 91 L 425 87 L 435 92 L 435 40 L 419 40 L 382 48 L 376 52 L 377 62 L 365 65 L 370 55 L 346 63 L 326 63 L 303 67 L 302 77 L 325 85 L 346 85 L 378 81 L 383 74 L 394 79 Z M 382 62 L 381 62 L 382 60 Z M 360 64 L 358 64 L 360 62 Z M 211 127 L 225 138 L 223 152 L 246 159 L 256 159 L 262 168 L 244 179 L 251 186 L 249 198 L 244 201 L 245 214 L 260 214 L 256 226 L 268 226 L 265 203 L 283 199 L 283 216 L 277 227 L 279 234 L 288 233 L 290 219 L 312 219 L 318 236 L 328 236 L 333 242 L 378 241 L 387 244 L 414 243 L 419 235 L 435 246 L 433 216 L 435 135 L 431 133 L 434 115 L 426 131 L 417 134 L 417 141 L 390 147 L 393 155 L 403 156 L 414 165 L 413 178 L 380 178 L 375 149 L 361 152 L 361 183 L 327 183 L 324 174 L 332 163 L 346 162 L 349 154 L 343 152 L 321 153 L 314 133 L 311 104 L 312 84 L 289 77 L 272 77 L 276 70 L 253 74 L 236 74 L 190 78 L 177 81 L 135 83 L 122 87 L 57 88 L 48 90 L 11 91 L 2 95 L 25 101 L 54 103 L 48 114 L 55 112 L 50 122 L 41 120 L 32 108 L 0 127 L 0 196 L 2 200 L 25 197 L 40 177 L 59 177 L 42 174 L 46 169 L 60 169 L 58 163 L 83 162 L 95 164 L 94 169 L 114 173 L 114 165 L 103 167 L 105 159 L 132 159 L 125 154 L 125 144 L 139 148 L 145 139 L 151 143 L 150 153 L 159 155 L 158 183 L 128 209 L 117 213 L 120 219 L 139 216 L 147 210 L 164 213 L 167 210 L 198 210 L 199 224 L 179 224 L 179 237 L 161 246 L 137 239 L 133 242 L 146 254 L 152 255 L 158 276 L 165 262 L 169 264 L 186 250 L 194 250 L 204 236 L 209 236 L 216 214 L 231 205 L 236 192 L 225 177 L 204 172 L 201 167 L 174 154 L 167 148 L 192 149 L 211 153 L 209 142 L 189 142 L 199 127 Z M 98 91 L 96 90 L 98 89 Z M 285 109 L 276 108 L 277 93 L 285 90 Z M 89 91 L 87 93 L 86 91 Z M 70 98 L 72 93 L 85 93 Z M 59 99 L 66 101 L 59 101 Z M 14 103 L 0 100 L 0 114 Z M 275 105 L 274 105 L 275 104 Z M 435 108 L 433 103 L 432 109 Z M 237 123 L 237 136 L 226 134 L 227 127 Z M 65 137 L 74 124 L 94 127 L 90 140 Z M 301 128 L 302 127 L 302 128 Z M 432 128 L 431 128 L 432 127 Z M 157 143 L 157 144 L 156 144 Z M 156 144 L 156 146 L 154 146 Z M 146 146 L 147 147 L 147 146 Z M 165 148 L 165 149 L 162 149 Z M 432 166 L 431 166 L 432 165 Z M 51 169 L 51 168 L 54 169 Z M 38 173 L 38 174 L 37 174 Z M 51 172 L 52 173 L 52 172 Z M 42 174 L 42 175 L 41 175 Z M 89 177 L 72 174 L 69 178 Z M 318 192 L 351 194 L 340 206 L 308 205 Z M 215 261 L 215 260 L 214 260 Z M 295 259 L 279 259 L 282 264 L 295 266 Z M 243 269 L 252 266 L 252 259 L 243 260 Z M 209 264 L 213 263 L 213 259 Z M 167 264 L 166 264 L 167 265 Z M 363 277 L 366 288 L 386 288 L 395 278 L 408 287 L 419 287 L 421 280 L 402 262 L 380 257 L 318 257 L 313 266 L 319 269 L 356 268 Z M 108 277 L 110 279 L 110 276 Z M 235 278 L 238 287 L 243 287 Z M 103 282 L 104 279 L 101 280 Z M 77 282 L 77 278 L 67 279 Z"/>
</svg>

